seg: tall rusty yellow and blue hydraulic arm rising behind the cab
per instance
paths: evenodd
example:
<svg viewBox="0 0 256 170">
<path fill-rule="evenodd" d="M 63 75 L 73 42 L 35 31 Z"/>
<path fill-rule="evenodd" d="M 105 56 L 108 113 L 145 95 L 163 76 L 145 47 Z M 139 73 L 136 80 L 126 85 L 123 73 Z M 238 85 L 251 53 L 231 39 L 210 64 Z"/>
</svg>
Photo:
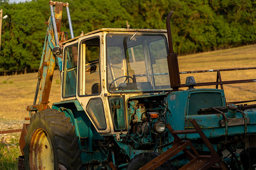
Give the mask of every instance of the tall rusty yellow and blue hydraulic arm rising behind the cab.
<svg viewBox="0 0 256 170">
<path fill-rule="evenodd" d="M 49 108 L 48 100 L 51 91 L 52 78 L 56 63 L 59 67 L 59 71 L 62 70 L 61 43 L 67 40 L 67 37 L 65 37 L 64 32 L 60 31 L 63 7 L 66 7 L 67 9 L 71 38 L 74 37 L 68 3 L 50 1 L 49 5 L 51 8 L 51 16 L 49 17 L 49 20 L 47 22 L 48 26 L 46 31 L 46 38 L 44 40 L 41 62 L 38 70 L 38 84 L 36 86 L 34 102 L 33 105 L 26 107 L 27 111 L 30 112 L 30 117 L 34 116 L 34 112 L 40 112 L 44 109 Z M 59 41 L 60 37 L 61 41 Z M 36 104 L 38 94 L 40 94 L 40 97 L 38 104 Z M 20 151 L 23 155 L 23 148 L 25 144 L 24 136 L 27 134 L 27 125 L 28 124 L 23 125 L 23 130 L 20 134 L 19 139 Z"/>
</svg>

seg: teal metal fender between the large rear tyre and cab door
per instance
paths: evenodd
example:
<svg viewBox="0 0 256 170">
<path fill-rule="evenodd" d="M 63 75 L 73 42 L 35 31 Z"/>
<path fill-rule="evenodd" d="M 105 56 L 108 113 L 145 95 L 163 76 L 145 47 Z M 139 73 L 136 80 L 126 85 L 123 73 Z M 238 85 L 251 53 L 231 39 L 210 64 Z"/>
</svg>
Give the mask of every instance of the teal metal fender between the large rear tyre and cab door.
<svg viewBox="0 0 256 170">
<path fill-rule="evenodd" d="M 54 103 L 52 108 L 64 112 L 65 116 L 71 118 L 72 125 L 75 125 L 75 132 L 79 137 L 78 142 L 82 150 L 81 161 L 83 164 L 102 162 L 108 158 L 109 151 L 101 150 L 101 147 L 96 147 L 98 144 L 95 143 L 96 141 L 104 141 L 104 137 L 97 133 L 77 100 Z M 96 147 L 96 150 L 93 150 L 93 147 Z"/>
</svg>

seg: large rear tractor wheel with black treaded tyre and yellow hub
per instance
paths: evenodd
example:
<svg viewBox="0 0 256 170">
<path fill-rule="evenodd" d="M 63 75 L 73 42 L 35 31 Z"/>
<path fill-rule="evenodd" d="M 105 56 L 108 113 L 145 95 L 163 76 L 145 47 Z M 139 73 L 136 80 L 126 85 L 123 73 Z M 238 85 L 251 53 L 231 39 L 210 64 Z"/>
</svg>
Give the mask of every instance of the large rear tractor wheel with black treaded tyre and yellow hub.
<svg viewBox="0 0 256 170">
<path fill-rule="evenodd" d="M 55 109 L 38 112 L 27 129 L 26 169 L 81 169 L 79 138 L 65 113 Z"/>
</svg>

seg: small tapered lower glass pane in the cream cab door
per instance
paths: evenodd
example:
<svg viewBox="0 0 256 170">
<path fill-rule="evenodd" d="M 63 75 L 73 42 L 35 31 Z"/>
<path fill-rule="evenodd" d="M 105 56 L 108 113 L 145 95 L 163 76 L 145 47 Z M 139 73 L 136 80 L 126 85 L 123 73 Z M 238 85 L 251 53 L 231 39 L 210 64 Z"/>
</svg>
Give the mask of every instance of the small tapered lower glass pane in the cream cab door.
<svg viewBox="0 0 256 170">
<path fill-rule="evenodd" d="M 96 125 L 97 129 L 106 129 L 106 118 L 101 98 L 90 99 L 86 111 Z"/>
</svg>

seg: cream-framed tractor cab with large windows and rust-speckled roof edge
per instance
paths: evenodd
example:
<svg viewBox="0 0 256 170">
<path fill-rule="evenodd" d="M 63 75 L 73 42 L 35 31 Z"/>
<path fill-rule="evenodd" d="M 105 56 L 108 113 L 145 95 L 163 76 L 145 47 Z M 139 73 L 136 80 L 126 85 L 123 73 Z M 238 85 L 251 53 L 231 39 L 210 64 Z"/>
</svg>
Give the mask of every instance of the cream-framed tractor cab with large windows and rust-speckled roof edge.
<svg viewBox="0 0 256 170">
<path fill-rule="evenodd" d="M 78 100 L 99 133 L 127 133 L 129 97 L 171 90 L 166 30 L 99 29 L 63 49 L 61 100 Z"/>
</svg>

